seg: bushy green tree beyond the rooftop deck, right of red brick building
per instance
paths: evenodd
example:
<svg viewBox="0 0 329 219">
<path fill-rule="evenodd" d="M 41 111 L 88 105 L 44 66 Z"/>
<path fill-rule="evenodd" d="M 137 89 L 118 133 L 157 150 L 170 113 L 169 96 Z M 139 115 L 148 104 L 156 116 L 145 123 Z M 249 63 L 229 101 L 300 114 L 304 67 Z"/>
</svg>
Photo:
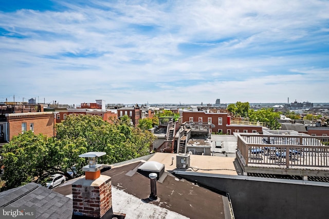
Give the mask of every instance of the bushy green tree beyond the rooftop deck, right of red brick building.
<svg viewBox="0 0 329 219">
<path fill-rule="evenodd" d="M 260 121 L 265 122 L 267 127 L 272 130 L 277 130 L 280 128 L 280 123 L 278 122 L 280 119 L 280 114 L 273 111 L 273 108 L 262 108 L 258 111 L 254 111 L 253 109 L 249 110 L 249 120 L 250 121 Z"/>
</svg>

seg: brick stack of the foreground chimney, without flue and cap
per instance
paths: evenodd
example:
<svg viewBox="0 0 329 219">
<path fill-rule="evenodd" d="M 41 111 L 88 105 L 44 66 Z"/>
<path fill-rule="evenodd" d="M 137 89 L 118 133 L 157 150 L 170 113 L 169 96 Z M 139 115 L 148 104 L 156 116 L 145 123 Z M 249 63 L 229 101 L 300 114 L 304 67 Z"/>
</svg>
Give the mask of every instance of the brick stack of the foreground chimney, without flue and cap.
<svg viewBox="0 0 329 219">
<path fill-rule="evenodd" d="M 100 186 L 85 185 L 81 183 L 83 180 L 85 179 L 72 184 L 73 213 L 100 218 L 112 207 L 111 178 Z M 95 181 L 97 180 L 99 178 Z"/>
</svg>

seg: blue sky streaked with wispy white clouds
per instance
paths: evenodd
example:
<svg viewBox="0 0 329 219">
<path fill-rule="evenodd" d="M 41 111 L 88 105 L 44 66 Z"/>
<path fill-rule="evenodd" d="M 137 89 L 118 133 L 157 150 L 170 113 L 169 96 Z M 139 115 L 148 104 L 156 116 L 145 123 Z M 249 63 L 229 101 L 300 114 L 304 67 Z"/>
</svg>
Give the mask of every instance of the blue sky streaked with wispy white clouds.
<svg viewBox="0 0 329 219">
<path fill-rule="evenodd" d="M 0 102 L 329 102 L 329 1 L 0 0 Z"/>
</svg>

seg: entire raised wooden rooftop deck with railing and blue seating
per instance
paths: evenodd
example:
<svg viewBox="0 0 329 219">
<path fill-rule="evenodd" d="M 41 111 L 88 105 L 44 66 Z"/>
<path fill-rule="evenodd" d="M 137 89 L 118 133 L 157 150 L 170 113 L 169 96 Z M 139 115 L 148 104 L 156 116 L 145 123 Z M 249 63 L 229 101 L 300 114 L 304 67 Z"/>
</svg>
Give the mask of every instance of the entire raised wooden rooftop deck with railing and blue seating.
<svg viewBox="0 0 329 219">
<path fill-rule="evenodd" d="M 328 136 L 237 135 L 236 157 L 247 173 L 329 176 Z"/>
</svg>

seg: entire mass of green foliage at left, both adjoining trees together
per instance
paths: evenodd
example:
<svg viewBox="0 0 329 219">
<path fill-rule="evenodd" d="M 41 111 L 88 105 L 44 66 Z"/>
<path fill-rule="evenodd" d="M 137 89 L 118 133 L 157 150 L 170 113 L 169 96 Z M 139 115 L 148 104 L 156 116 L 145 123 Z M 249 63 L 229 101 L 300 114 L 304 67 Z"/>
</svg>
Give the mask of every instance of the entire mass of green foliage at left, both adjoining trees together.
<svg viewBox="0 0 329 219">
<path fill-rule="evenodd" d="M 111 164 L 133 159 L 150 153 L 155 136 L 135 128 L 126 120 L 113 123 L 103 121 L 99 116 L 68 115 L 62 123 L 56 124 L 56 137 L 34 135 L 31 131 L 14 136 L 3 147 L 1 165 L 6 180 L 3 190 L 22 186 L 29 182 L 43 184 L 55 173 L 70 178 L 67 171 L 76 167 L 82 174 L 87 164 L 78 155 L 89 151 L 106 152 L 99 163 Z"/>
</svg>

